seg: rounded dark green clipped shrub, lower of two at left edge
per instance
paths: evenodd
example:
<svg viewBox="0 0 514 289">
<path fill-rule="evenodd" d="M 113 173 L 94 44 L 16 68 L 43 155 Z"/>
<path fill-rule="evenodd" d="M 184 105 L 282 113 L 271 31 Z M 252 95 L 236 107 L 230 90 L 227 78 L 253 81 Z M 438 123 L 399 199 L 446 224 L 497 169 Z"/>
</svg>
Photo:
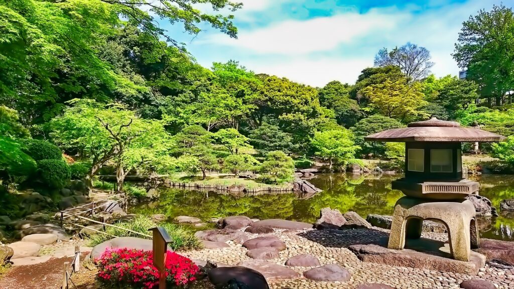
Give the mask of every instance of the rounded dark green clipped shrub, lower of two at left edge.
<svg viewBox="0 0 514 289">
<path fill-rule="evenodd" d="M 38 167 L 42 182 L 51 188 L 64 188 L 71 179 L 71 171 L 63 159 L 43 159 Z"/>
</svg>

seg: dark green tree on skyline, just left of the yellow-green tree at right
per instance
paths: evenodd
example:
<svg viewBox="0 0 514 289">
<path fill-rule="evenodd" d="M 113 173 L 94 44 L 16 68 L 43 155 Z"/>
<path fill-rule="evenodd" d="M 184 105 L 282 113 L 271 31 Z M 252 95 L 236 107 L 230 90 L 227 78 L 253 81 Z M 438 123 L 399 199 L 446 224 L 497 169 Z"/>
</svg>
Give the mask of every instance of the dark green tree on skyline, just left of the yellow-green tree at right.
<svg viewBox="0 0 514 289">
<path fill-rule="evenodd" d="M 350 98 L 350 85 L 332 81 L 319 89 L 321 105 L 334 111 L 337 123 L 349 128 L 363 116 L 359 104 Z"/>
</svg>

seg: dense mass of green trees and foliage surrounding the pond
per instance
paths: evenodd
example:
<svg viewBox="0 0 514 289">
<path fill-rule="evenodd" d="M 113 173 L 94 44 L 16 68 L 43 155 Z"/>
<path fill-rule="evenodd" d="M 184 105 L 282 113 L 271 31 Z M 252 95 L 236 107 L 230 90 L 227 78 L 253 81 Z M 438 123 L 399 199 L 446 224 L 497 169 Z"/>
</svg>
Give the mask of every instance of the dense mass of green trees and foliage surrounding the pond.
<svg viewBox="0 0 514 289">
<path fill-rule="evenodd" d="M 203 67 L 155 25 L 161 17 L 187 33 L 207 25 L 236 37 L 230 12 L 240 4 L 201 3 L 218 12 L 192 0 L 0 4 L 2 184 L 61 187 L 72 177 L 92 185 L 105 167 L 116 174 L 116 190 L 128 174 L 205 179 L 212 170 L 256 171 L 283 183 L 292 179 L 293 158 L 297 167 L 317 158 L 338 169 L 355 158 L 398 160 L 401 148 L 364 137 L 431 115 L 514 135 L 510 8 L 464 22 L 453 57 L 467 79 L 436 78 L 430 51 L 407 43 L 378 51 L 355 84 L 315 88 L 235 60 Z M 510 148 L 481 147 L 505 161 Z"/>
</svg>

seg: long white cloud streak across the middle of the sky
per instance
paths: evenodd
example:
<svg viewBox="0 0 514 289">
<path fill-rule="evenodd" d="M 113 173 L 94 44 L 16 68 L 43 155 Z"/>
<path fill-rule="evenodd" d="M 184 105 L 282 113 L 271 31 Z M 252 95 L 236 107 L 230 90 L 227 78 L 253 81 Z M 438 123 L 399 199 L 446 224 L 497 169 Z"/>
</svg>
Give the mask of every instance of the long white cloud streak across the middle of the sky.
<svg viewBox="0 0 514 289">
<path fill-rule="evenodd" d="M 253 31 L 242 30 L 238 33 L 238 39 L 214 34 L 204 41 L 207 44 L 249 49 L 260 54 L 300 55 L 330 51 L 372 32 L 386 33 L 397 28 L 398 22 L 406 17 L 409 16 L 379 13 L 377 10 L 365 14 L 348 12 L 306 21 L 287 20 Z"/>
</svg>

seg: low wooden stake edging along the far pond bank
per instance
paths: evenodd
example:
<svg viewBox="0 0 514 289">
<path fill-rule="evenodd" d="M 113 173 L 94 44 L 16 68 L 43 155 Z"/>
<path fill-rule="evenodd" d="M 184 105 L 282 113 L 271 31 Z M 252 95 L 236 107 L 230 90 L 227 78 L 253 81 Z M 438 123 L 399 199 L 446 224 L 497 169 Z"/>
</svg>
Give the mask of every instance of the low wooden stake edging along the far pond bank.
<svg viewBox="0 0 514 289">
<path fill-rule="evenodd" d="M 256 187 L 256 188 L 244 188 L 239 189 L 237 186 L 234 188 L 230 188 L 228 185 L 221 184 L 197 184 L 197 183 L 179 183 L 179 182 L 171 182 L 165 183 L 165 185 L 170 186 L 172 188 L 180 188 L 180 189 L 188 189 L 188 190 L 209 190 L 209 191 L 218 191 L 218 192 L 244 192 L 248 194 L 252 193 L 270 193 L 270 194 L 279 194 L 279 193 L 291 193 L 292 187 Z"/>
</svg>

